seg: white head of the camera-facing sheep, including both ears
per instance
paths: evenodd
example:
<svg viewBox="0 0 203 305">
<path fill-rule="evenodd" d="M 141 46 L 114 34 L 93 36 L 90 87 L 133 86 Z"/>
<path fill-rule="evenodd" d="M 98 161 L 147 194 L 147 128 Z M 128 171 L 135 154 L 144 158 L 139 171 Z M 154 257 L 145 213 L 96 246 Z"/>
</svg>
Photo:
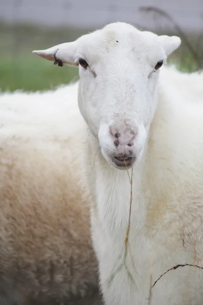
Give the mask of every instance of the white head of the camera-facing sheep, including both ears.
<svg viewBox="0 0 203 305">
<path fill-rule="evenodd" d="M 157 106 L 159 68 L 180 38 L 122 22 L 38 55 L 79 66 L 78 102 L 104 158 L 118 169 L 139 162 Z"/>
</svg>

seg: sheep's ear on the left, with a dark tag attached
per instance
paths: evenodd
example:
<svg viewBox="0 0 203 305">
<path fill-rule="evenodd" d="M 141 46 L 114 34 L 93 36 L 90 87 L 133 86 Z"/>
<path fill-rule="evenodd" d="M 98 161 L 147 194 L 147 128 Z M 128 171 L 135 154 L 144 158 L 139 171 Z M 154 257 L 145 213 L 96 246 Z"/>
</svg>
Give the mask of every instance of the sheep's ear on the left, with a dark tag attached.
<svg viewBox="0 0 203 305">
<path fill-rule="evenodd" d="M 56 45 L 46 50 L 36 50 L 32 53 L 37 54 L 45 59 L 52 60 L 54 64 L 62 67 L 63 64 L 70 66 L 78 66 L 78 60 L 76 60 L 77 41 L 67 42 Z"/>
</svg>

